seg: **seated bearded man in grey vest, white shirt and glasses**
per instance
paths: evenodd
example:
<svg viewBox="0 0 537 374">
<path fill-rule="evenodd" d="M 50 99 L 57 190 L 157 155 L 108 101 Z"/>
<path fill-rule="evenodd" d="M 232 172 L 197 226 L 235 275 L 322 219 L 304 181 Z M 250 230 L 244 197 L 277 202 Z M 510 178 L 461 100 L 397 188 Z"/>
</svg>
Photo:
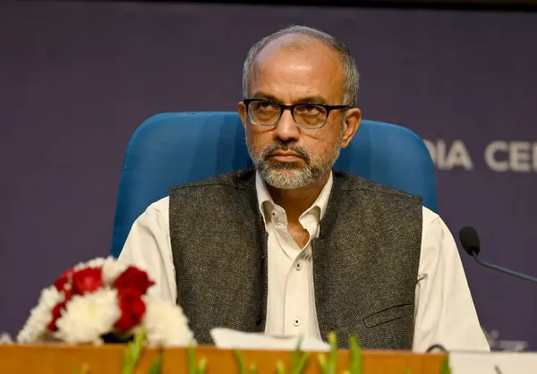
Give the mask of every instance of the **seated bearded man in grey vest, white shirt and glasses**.
<svg viewBox="0 0 537 374">
<path fill-rule="evenodd" d="M 345 45 L 294 26 L 251 47 L 238 111 L 255 170 L 176 186 L 132 226 L 121 260 L 213 327 L 351 334 L 366 349 L 488 350 L 456 243 L 402 191 L 332 172 L 361 121 Z"/>
</svg>

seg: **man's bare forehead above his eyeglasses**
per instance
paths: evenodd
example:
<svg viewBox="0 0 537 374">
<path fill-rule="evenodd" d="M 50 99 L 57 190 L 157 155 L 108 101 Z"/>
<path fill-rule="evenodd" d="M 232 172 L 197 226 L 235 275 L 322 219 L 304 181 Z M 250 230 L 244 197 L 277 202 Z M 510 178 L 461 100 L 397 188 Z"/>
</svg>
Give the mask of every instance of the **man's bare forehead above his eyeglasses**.
<svg viewBox="0 0 537 374">
<path fill-rule="evenodd" d="M 342 94 L 339 55 L 318 40 L 287 35 L 273 40 L 257 55 L 250 76 L 258 91 L 283 100 L 320 96 L 330 101 Z"/>
</svg>

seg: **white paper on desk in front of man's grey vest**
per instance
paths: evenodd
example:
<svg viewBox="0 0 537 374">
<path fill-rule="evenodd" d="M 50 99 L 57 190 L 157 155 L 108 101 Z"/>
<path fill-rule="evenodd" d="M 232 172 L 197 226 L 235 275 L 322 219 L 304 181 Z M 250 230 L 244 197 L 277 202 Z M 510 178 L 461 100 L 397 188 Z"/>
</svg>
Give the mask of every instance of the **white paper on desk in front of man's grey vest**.
<svg viewBox="0 0 537 374">
<path fill-rule="evenodd" d="M 219 349 L 240 349 L 255 351 L 294 351 L 299 337 L 266 336 L 260 333 L 243 333 L 228 328 L 213 328 L 210 331 L 215 345 Z M 301 351 L 328 352 L 330 345 L 319 339 L 303 338 Z"/>
</svg>

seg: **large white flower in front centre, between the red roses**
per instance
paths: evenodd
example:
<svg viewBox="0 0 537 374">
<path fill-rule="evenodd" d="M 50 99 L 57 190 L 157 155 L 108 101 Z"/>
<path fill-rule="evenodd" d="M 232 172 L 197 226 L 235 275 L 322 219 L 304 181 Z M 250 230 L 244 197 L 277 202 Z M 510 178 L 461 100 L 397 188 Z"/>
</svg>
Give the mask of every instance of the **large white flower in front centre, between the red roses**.
<svg viewBox="0 0 537 374">
<path fill-rule="evenodd" d="M 102 344 L 101 336 L 112 332 L 120 316 L 116 290 L 75 295 L 56 321 L 54 336 L 67 344 Z"/>
</svg>

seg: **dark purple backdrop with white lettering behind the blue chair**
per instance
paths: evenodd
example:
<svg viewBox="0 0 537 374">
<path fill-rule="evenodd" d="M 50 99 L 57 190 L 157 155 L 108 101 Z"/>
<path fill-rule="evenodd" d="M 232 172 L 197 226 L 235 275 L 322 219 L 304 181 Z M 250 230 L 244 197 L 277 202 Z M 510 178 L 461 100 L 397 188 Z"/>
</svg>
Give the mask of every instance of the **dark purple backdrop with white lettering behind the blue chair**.
<svg viewBox="0 0 537 374">
<path fill-rule="evenodd" d="M 537 274 L 537 13 L 185 4 L 0 4 L 0 330 L 106 255 L 124 149 L 149 115 L 234 110 L 251 43 L 290 23 L 342 38 L 368 119 L 428 140 L 439 208 L 483 257 Z M 482 325 L 537 349 L 537 287 L 465 268 Z"/>
</svg>

